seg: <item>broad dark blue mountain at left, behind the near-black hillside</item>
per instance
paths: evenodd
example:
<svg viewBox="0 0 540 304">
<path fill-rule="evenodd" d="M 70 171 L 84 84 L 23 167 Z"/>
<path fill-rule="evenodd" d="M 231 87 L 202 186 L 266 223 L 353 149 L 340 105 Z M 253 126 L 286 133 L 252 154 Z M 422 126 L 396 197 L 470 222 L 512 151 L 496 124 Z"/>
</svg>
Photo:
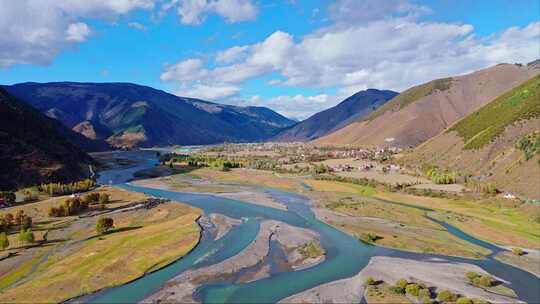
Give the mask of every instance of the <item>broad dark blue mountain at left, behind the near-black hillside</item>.
<svg viewBox="0 0 540 304">
<path fill-rule="evenodd" d="M 113 147 L 262 141 L 295 122 L 264 107 L 178 97 L 130 83 L 21 83 L 14 96 Z"/>
</svg>

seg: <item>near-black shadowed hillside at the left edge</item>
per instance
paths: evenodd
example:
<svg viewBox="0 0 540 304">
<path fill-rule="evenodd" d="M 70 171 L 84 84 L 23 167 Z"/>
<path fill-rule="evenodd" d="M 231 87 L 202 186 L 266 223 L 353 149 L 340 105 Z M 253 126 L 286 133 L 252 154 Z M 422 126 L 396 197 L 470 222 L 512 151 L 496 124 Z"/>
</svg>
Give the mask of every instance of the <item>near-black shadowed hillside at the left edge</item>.
<svg viewBox="0 0 540 304">
<path fill-rule="evenodd" d="M 0 189 L 88 176 L 93 160 L 78 147 L 87 144 L 0 87 Z"/>
</svg>

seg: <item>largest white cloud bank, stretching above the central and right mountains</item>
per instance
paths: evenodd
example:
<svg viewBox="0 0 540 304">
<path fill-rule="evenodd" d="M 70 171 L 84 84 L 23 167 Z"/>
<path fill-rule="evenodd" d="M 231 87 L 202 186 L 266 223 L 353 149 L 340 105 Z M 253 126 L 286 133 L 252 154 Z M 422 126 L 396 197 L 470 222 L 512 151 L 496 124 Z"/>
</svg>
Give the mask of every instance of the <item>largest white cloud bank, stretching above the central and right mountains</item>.
<svg viewBox="0 0 540 304">
<path fill-rule="evenodd" d="M 277 31 L 259 43 L 223 50 L 214 58 L 217 65 L 198 61 L 190 77 L 182 73 L 165 77 L 172 73 L 166 69 L 162 79 L 237 87 L 277 73 L 279 79 L 268 85 L 337 88 L 337 94 L 322 103 L 303 95 L 249 99 L 283 114 L 305 117 L 367 88 L 402 91 L 501 62 L 529 62 L 538 58 L 539 40 L 540 22 L 479 38 L 468 24 L 392 17 L 346 27 L 331 25 L 298 41 Z"/>
</svg>

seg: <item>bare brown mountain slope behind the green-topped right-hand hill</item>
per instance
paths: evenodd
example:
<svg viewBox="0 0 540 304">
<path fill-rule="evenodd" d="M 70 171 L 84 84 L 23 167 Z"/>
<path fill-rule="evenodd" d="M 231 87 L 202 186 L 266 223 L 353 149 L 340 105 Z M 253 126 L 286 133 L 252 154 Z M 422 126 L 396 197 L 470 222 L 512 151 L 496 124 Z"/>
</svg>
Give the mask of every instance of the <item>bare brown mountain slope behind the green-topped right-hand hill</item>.
<svg viewBox="0 0 540 304">
<path fill-rule="evenodd" d="M 415 147 L 538 71 L 538 65 L 499 64 L 431 81 L 408 89 L 366 119 L 314 143 Z"/>
</svg>

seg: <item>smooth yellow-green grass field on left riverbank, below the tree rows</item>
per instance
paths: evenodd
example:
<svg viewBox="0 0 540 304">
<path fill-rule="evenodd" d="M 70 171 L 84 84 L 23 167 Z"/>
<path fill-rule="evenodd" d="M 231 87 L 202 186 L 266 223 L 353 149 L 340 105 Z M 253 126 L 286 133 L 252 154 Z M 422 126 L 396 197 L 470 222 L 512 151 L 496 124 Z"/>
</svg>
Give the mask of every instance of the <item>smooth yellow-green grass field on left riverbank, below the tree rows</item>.
<svg viewBox="0 0 540 304">
<path fill-rule="evenodd" d="M 0 302 L 61 302 L 124 284 L 163 267 L 199 240 L 197 209 L 167 203 L 150 210 L 113 215 L 117 232 L 94 237 L 49 256 L 18 284 L 0 293 Z"/>
</svg>

